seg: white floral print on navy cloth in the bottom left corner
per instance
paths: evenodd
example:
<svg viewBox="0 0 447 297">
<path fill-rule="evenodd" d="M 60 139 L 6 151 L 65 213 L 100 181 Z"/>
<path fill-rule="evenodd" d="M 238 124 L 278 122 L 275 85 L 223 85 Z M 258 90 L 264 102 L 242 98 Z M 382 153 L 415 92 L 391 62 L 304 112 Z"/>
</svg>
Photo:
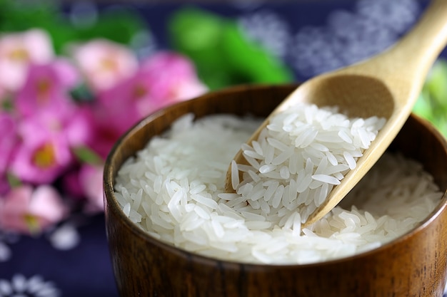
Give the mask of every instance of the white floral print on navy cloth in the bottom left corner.
<svg viewBox="0 0 447 297">
<path fill-rule="evenodd" d="M 39 276 L 26 278 L 15 274 L 11 280 L 0 279 L 0 297 L 59 297 L 61 293 L 54 283 Z"/>
</svg>

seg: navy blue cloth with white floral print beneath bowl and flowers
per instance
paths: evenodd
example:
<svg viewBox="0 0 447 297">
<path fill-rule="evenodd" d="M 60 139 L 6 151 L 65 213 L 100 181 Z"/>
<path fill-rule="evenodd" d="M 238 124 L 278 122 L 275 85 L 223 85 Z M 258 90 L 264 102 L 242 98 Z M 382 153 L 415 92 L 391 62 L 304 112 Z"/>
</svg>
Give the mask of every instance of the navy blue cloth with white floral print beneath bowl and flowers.
<svg viewBox="0 0 447 297">
<path fill-rule="evenodd" d="M 201 4 L 201 7 L 244 21 L 246 29 L 255 35 L 263 32 L 258 34 L 260 41 L 271 46 L 272 51 L 292 66 L 297 80 L 305 80 L 327 71 L 328 67 L 347 65 L 386 48 L 416 21 L 426 3 L 417 0 L 284 1 L 278 4 L 231 1 L 231 4 Z M 169 48 L 166 22 L 179 5 L 138 4 L 136 7 L 149 23 L 156 41 L 154 46 Z M 378 17 L 377 24 L 362 21 L 365 9 Z M 380 18 L 384 13 L 389 16 Z M 259 23 L 259 19 L 263 21 Z M 343 28 L 343 36 L 333 38 L 333 32 L 340 28 Z M 378 31 L 380 38 L 371 38 L 378 36 L 374 35 Z M 306 48 L 296 42 L 298 36 L 308 42 Z M 343 51 L 339 50 L 341 43 Z M 290 44 L 292 46 L 286 46 Z M 325 51 L 315 51 L 316 48 L 325 48 Z M 34 238 L 0 231 L 0 297 L 118 296 L 104 215 L 80 215 L 65 227 L 59 230 L 60 236 L 79 239 L 79 244 L 71 249 L 57 246 L 54 238 L 48 236 Z M 27 295 L 19 295 L 20 292 Z"/>
</svg>

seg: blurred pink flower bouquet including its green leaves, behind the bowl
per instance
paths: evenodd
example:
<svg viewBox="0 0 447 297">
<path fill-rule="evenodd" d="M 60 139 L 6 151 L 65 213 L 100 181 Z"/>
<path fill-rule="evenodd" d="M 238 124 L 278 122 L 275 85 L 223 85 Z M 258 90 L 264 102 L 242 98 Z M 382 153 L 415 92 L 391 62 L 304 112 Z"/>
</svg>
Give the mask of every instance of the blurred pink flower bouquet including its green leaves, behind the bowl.
<svg viewBox="0 0 447 297">
<path fill-rule="evenodd" d="M 0 0 L 0 239 L 102 212 L 106 155 L 149 113 L 209 88 L 293 80 L 206 11 L 179 9 L 165 51 L 138 11 L 56 3 Z"/>
</svg>

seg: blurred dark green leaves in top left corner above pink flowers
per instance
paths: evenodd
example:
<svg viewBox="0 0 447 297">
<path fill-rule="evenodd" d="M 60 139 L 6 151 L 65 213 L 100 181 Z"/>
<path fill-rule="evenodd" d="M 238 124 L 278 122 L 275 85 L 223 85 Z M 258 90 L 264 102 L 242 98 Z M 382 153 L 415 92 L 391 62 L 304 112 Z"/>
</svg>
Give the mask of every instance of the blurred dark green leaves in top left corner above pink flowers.
<svg viewBox="0 0 447 297">
<path fill-rule="evenodd" d="M 0 32 L 26 31 L 41 28 L 51 36 L 57 54 L 64 53 L 67 44 L 106 38 L 128 46 L 136 33 L 148 31 L 144 19 L 130 9 L 100 11 L 91 26 L 74 26 L 63 12 L 60 1 L 0 0 Z"/>
</svg>

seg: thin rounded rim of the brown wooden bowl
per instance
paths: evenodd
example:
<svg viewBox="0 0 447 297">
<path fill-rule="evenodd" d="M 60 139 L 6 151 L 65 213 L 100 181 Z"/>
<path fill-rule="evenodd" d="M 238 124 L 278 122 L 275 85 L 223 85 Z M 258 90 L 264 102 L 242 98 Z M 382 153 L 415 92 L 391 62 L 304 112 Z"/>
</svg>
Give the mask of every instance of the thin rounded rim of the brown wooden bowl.
<svg viewBox="0 0 447 297">
<path fill-rule="evenodd" d="M 286 85 L 286 84 L 284 84 Z M 284 86 L 284 85 L 278 85 L 278 86 Z M 258 88 L 262 86 L 268 86 L 268 85 L 251 85 L 250 87 Z M 223 90 L 213 91 L 212 93 L 224 93 L 224 92 L 232 92 L 236 91 L 239 88 L 246 88 L 246 85 L 238 85 L 233 86 L 230 88 L 225 88 Z M 119 203 L 116 200 L 116 197 L 114 195 L 114 179 L 116 175 L 114 175 L 114 170 L 111 164 L 114 163 L 114 160 L 116 160 L 117 152 L 119 151 L 119 147 L 123 142 L 126 142 L 126 140 L 129 140 L 131 135 L 133 135 L 136 131 L 140 130 L 145 125 L 148 125 L 151 120 L 154 120 L 155 118 L 159 118 L 160 116 L 164 115 L 166 113 L 166 110 L 169 110 L 170 108 L 174 108 L 176 105 L 182 105 L 182 104 L 188 104 L 191 100 L 200 100 L 201 98 L 204 98 L 209 93 L 206 93 L 204 95 L 201 95 L 197 98 L 193 98 L 190 100 L 182 101 L 179 103 L 175 103 L 174 105 L 166 106 L 165 108 L 161 108 L 160 110 L 156 110 L 154 113 L 151 113 L 150 115 L 146 116 L 145 118 L 141 119 L 138 123 L 136 123 L 133 127 L 131 127 L 129 130 L 124 132 L 121 137 L 119 137 L 119 140 L 117 140 L 114 143 L 114 146 L 111 148 L 109 155 L 106 157 L 106 162 L 104 164 L 104 174 L 103 174 L 103 194 L 104 194 L 104 207 L 106 208 L 105 211 L 107 212 L 107 208 L 109 208 L 109 212 L 113 212 L 116 218 L 118 218 L 121 223 L 124 224 L 125 228 L 128 229 L 128 231 L 131 231 L 132 234 L 139 237 L 139 239 L 148 242 L 149 244 L 153 244 L 154 246 L 157 246 L 160 249 L 164 249 L 166 251 L 169 251 L 171 254 L 175 254 L 176 256 L 181 256 L 181 258 L 184 259 L 194 259 L 196 262 L 204 263 L 204 264 L 237 264 L 237 265 L 243 265 L 247 269 L 249 267 L 251 268 L 271 268 L 271 269 L 278 269 L 278 268 L 302 268 L 306 269 L 308 267 L 318 267 L 318 266 L 326 266 L 331 264 L 337 264 L 341 262 L 346 261 L 354 261 L 356 259 L 361 259 L 366 256 L 370 256 L 371 254 L 380 253 L 381 251 L 385 249 L 389 249 L 391 246 L 395 244 L 399 244 L 401 241 L 406 241 L 411 236 L 414 236 L 415 234 L 418 234 L 419 232 L 423 231 L 423 229 L 426 229 L 431 222 L 436 220 L 441 213 L 444 211 L 444 209 L 447 208 L 447 189 L 444 191 L 443 196 L 439 200 L 439 203 L 436 205 L 435 209 L 428 214 L 428 217 L 426 219 L 423 219 L 423 221 L 418 224 L 418 226 L 414 227 L 413 229 L 406 231 L 401 236 L 398 236 L 396 239 L 393 239 L 391 241 L 386 242 L 385 244 L 381 244 L 381 246 L 378 246 L 377 248 L 373 248 L 368 251 L 359 252 L 358 254 L 353 254 L 351 256 L 345 256 L 341 258 L 336 259 L 328 259 L 327 261 L 318 261 L 318 262 L 311 262 L 306 264 L 265 264 L 265 263 L 253 263 L 253 262 L 243 262 L 243 261 L 235 261 L 235 260 L 227 260 L 227 259 L 219 259 L 214 258 L 212 256 L 206 256 L 202 254 L 196 254 L 192 251 L 188 251 L 186 249 L 183 249 L 178 246 L 174 246 L 174 244 L 171 244 L 166 241 L 162 241 L 160 239 L 156 239 L 156 237 L 152 236 L 151 234 L 147 233 L 143 229 L 141 229 L 139 226 L 137 226 L 134 222 L 131 222 L 131 219 L 129 217 L 126 217 L 124 212 L 122 211 L 122 208 L 120 207 Z M 443 147 L 446 148 L 447 151 L 447 140 L 446 137 L 443 137 L 441 135 L 441 132 L 434 128 L 434 126 L 428 122 L 428 120 L 425 120 L 418 115 L 411 113 L 410 118 L 415 118 L 418 120 L 421 125 L 426 127 L 427 129 L 430 129 L 433 132 L 433 136 L 436 137 L 436 139 L 439 142 L 443 143 Z M 149 140 L 148 140 L 149 141 Z M 135 155 L 135 153 L 134 153 Z M 121 163 L 122 165 L 122 163 Z M 121 166 L 120 165 L 120 166 Z M 442 190 L 441 190 L 442 191 Z M 108 216 L 106 215 L 106 220 Z M 107 237 L 109 237 L 107 230 Z"/>
</svg>

